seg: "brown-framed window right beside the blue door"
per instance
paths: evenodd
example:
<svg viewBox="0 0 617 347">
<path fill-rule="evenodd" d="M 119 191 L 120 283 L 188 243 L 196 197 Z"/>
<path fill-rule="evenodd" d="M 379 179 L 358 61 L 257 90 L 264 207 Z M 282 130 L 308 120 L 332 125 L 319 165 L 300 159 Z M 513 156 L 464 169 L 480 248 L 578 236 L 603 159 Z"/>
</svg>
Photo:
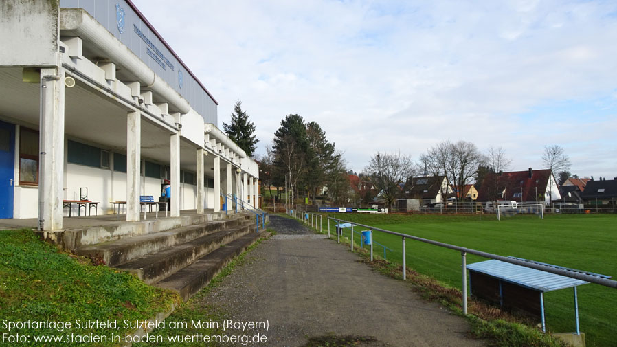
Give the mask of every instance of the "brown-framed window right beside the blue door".
<svg viewBox="0 0 617 347">
<path fill-rule="evenodd" d="M 38 131 L 19 131 L 19 184 L 38 185 Z"/>
</svg>

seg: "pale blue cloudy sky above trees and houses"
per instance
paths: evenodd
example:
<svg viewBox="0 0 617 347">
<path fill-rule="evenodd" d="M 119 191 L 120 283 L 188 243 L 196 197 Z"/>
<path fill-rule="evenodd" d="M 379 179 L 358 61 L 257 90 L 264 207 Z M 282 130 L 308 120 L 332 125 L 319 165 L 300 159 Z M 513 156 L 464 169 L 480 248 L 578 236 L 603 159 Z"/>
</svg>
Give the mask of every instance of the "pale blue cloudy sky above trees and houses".
<svg viewBox="0 0 617 347">
<path fill-rule="evenodd" d="M 258 151 L 280 120 L 319 123 L 360 172 L 449 139 L 502 146 L 513 170 L 565 148 L 617 176 L 616 1 L 133 0 Z"/>
</svg>

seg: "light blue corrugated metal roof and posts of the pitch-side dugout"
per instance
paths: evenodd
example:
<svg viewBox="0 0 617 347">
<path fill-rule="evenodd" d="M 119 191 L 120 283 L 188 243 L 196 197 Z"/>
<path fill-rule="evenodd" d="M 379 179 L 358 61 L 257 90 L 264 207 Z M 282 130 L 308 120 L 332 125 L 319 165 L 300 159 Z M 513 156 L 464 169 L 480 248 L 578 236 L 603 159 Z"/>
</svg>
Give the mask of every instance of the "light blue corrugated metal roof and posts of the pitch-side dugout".
<svg viewBox="0 0 617 347">
<path fill-rule="evenodd" d="M 557 265 L 550 265 L 544 262 L 535 262 L 532 260 L 526 260 L 523 258 L 516 258 L 517 260 L 530 262 L 533 264 L 545 265 L 553 267 L 555 269 L 562 269 L 565 271 L 572 271 L 573 273 L 583 273 L 590 276 L 597 276 L 598 278 L 611 278 L 611 276 L 601 275 L 598 273 L 592 273 L 587 271 L 581 271 L 576 269 L 568 269 L 567 267 L 559 267 Z M 581 284 L 588 284 L 583 280 L 576 280 L 574 278 L 568 278 L 554 273 L 548 273 L 546 271 L 540 271 L 536 269 L 530 269 L 528 267 L 522 267 L 521 265 L 510 264 L 508 262 L 502 262 L 500 260 L 486 260 L 483 262 L 475 262 L 467 265 L 469 271 L 475 271 L 483 273 L 486 276 L 497 278 L 500 281 L 516 284 L 520 287 L 538 291 L 540 293 L 540 313 L 542 318 L 542 331 L 546 331 L 544 322 L 544 295 L 548 291 L 557 291 L 559 289 L 574 288 L 574 313 L 576 315 L 576 335 L 580 335 L 579 329 L 579 302 L 576 295 L 576 287 Z M 500 282 L 500 298 L 502 298 L 501 282 Z"/>
</svg>

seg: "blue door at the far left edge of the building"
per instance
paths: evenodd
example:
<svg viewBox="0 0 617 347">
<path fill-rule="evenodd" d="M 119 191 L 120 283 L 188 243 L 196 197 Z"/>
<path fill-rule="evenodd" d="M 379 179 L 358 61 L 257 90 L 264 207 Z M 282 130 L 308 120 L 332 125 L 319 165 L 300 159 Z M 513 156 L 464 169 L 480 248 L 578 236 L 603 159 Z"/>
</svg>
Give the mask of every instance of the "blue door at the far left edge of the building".
<svg viewBox="0 0 617 347">
<path fill-rule="evenodd" d="M 13 218 L 15 126 L 0 122 L 0 218 Z"/>
</svg>

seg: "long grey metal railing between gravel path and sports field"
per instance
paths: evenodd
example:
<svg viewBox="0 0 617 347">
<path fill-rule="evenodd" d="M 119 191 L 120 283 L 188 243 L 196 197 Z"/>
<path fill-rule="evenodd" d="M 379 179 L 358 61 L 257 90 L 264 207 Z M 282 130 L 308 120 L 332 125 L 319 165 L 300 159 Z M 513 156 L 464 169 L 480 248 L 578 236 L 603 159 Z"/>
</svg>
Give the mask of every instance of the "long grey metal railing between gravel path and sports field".
<svg viewBox="0 0 617 347">
<path fill-rule="evenodd" d="M 460 251 L 460 255 L 461 255 L 461 265 L 462 265 L 462 309 L 463 309 L 463 314 L 467 315 L 467 254 L 474 254 L 476 256 L 482 256 L 484 258 L 489 258 L 489 259 L 495 259 L 495 260 L 500 260 L 502 262 L 509 262 L 511 264 L 515 264 L 515 265 L 520 265 L 522 267 L 528 267 L 530 269 L 537 269 L 540 271 L 546 271 L 549 273 L 554 273 L 556 275 L 561 275 L 561 276 L 565 276 L 568 278 L 574 278 L 576 280 L 583 280 L 586 282 L 590 282 L 590 283 L 595 283 L 595 284 L 600 284 L 602 286 L 605 287 L 611 287 L 611 288 L 616 288 L 617 289 L 617 281 L 615 280 L 609 280 L 607 278 L 601 278 L 599 276 L 594 276 L 594 274 L 591 273 L 586 273 L 585 271 L 572 271 L 572 270 L 567 270 L 567 269 L 563 269 L 561 267 L 556 267 L 556 266 L 551 266 L 551 265 L 545 265 L 545 264 L 541 264 L 538 262 L 532 262 L 530 260 L 519 260 L 517 258 L 508 258 L 505 256 L 499 256 L 497 254 L 492 254 L 492 253 L 487 253 L 484 251 L 478 251 L 476 249 L 471 249 L 471 248 L 467 248 L 467 247 L 460 247 L 460 246 L 456 246 L 456 245 L 450 245 L 449 243 L 442 243 L 442 242 L 438 242 L 438 241 L 434 241 L 434 240 L 429 240 L 427 238 L 420 238 L 418 236 L 413 236 L 410 234 L 403 234 L 400 232 L 392 232 L 391 230 L 385 230 L 385 229 L 381 229 L 379 227 L 372 227 L 371 225 L 365 225 L 365 224 L 361 224 L 361 223 L 355 223 L 352 221 L 345 221 L 343 219 L 337 219 L 334 217 L 328 217 L 328 237 L 330 237 L 330 220 L 333 220 L 335 222 L 335 225 L 338 226 L 337 230 L 337 234 L 338 234 L 338 243 L 341 242 L 341 235 L 340 235 L 340 225 L 341 223 L 349 223 L 351 225 L 352 228 L 352 237 L 351 237 L 351 250 L 353 251 L 353 227 L 355 225 L 359 226 L 359 227 L 366 227 L 370 230 L 370 240 L 371 240 L 371 247 L 370 247 L 370 260 L 373 260 L 373 247 L 372 244 L 374 243 L 374 238 L 373 238 L 373 231 L 377 230 L 379 232 L 384 232 L 385 234 L 391 234 L 391 235 L 395 235 L 395 236 L 401 236 L 402 238 L 402 245 L 403 245 L 403 280 L 407 279 L 407 271 L 405 271 L 406 268 L 406 255 L 405 255 L 405 240 L 407 238 L 409 238 L 410 240 L 416 240 L 416 241 L 420 241 L 422 243 L 428 243 L 430 245 L 436 245 L 438 247 L 443 247 L 443 248 L 448 248 L 448 249 L 453 249 L 455 251 Z"/>
</svg>

